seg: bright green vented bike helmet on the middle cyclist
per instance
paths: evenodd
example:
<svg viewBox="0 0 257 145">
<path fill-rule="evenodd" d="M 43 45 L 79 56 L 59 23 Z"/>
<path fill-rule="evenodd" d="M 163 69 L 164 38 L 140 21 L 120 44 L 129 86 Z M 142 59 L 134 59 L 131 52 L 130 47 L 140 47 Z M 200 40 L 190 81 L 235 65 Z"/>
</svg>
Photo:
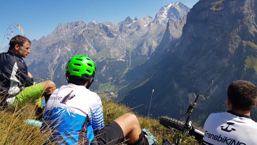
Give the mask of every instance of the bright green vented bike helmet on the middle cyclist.
<svg viewBox="0 0 257 145">
<path fill-rule="evenodd" d="M 76 55 L 70 58 L 66 66 L 66 77 L 78 76 L 89 80 L 95 76 L 96 67 L 93 60 L 84 55 Z"/>
</svg>

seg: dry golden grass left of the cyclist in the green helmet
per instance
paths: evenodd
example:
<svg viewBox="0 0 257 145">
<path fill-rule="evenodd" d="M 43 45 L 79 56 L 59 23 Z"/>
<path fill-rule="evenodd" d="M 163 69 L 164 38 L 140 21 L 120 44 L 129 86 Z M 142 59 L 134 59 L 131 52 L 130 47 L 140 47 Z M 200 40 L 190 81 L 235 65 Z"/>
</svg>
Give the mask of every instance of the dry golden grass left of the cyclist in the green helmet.
<svg viewBox="0 0 257 145">
<path fill-rule="evenodd" d="M 0 144 L 43 144 L 51 132 L 40 132 L 38 127 L 23 123 L 30 116 L 35 117 L 34 106 L 0 108 Z"/>
</svg>

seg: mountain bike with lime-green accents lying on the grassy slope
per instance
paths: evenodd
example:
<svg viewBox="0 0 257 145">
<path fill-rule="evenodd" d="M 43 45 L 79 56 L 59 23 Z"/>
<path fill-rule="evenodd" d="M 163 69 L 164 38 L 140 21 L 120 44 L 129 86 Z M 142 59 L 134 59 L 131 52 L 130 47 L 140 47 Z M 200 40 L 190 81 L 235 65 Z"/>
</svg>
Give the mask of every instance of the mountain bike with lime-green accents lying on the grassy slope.
<svg viewBox="0 0 257 145">
<path fill-rule="evenodd" d="M 203 140 L 204 131 L 202 131 L 200 128 L 198 128 L 196 126 L 192 126 L 191 125 L 192 122 L 190 121 L 191 113 L 195 109 L 196 102 L 199 100 L 199 98 L 200 98 L 200 95 L 197 95 L 195 102 L 193 104 L 191 102 L 191 105 L 188 107 L 186 114 L 188 114 L 188 113 L 189 114 L 188 114 L 188 117 L 187 117 L 187 120 L 185 123 L 182 121 L 179 121 L 177 119 L 170 118 L 168 116 L 159 117 L 159 122 L 164 127 L 167 127 L 169 129 L 175 128 L 176 130 L 181 131 L 181 134 L 178 136 L 178 138 L 176 140 L 176 145 L 181 144 L 182 136 L 194 136 L 194 138 L 198 141 L 198 143 L 201 143 Z"/>
</svg>

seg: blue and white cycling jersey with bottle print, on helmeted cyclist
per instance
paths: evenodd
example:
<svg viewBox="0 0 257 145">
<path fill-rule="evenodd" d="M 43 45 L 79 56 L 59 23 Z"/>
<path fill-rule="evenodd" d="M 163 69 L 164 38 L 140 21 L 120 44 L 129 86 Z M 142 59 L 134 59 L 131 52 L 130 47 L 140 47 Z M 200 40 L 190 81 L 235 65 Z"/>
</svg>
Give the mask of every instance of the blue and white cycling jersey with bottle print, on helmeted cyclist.
<svg viewBox="0 0 257 145">
<path fill-rule="evenodd" d="M 85 86 L 62 85 L 47 101 L 42 126 L 61 144 L 90 144 L 93 131 L 104 127 L 102 101 Z"/>
</svg>

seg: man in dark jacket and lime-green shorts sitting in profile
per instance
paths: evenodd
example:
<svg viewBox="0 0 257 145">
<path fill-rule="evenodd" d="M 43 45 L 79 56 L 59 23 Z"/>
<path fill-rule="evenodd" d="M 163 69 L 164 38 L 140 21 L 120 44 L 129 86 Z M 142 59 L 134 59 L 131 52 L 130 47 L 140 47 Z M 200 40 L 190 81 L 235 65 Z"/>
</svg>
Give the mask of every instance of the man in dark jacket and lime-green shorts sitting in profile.
<svg viewBox="0 0 257 145">
<path fill-rule="evenodd" d="M 38 99 L 44 94 L 49 97 L 55 84 L 48 80 L 34 84 L 32 75 L 22 58 L 30 53 L 31 41 L 21 35 L 14 36 L 9 43 L 8 52 L 0 54 L 0 106 Z"/>
</svg>

